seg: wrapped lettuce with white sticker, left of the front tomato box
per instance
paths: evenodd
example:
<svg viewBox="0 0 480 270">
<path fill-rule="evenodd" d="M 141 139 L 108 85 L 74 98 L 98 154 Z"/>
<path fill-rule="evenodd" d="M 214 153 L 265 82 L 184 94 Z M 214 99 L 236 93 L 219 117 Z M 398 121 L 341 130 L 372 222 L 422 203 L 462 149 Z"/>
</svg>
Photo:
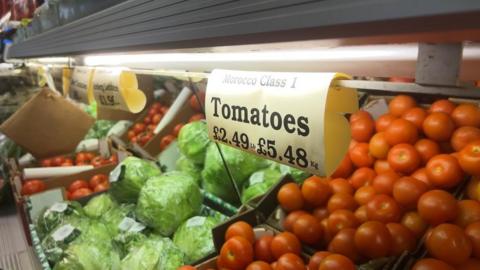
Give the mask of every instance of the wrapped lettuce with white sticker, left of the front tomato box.
<svg viewBox="0 0 480 270">
<path fill-rule="evenodd" d="M 215 252 L 212 229 L 216 224 L 212 217 L 195 216 L 178 227 L 173 243 L 185 253 L 185 263 L 192 264 Z"/>
</svg>

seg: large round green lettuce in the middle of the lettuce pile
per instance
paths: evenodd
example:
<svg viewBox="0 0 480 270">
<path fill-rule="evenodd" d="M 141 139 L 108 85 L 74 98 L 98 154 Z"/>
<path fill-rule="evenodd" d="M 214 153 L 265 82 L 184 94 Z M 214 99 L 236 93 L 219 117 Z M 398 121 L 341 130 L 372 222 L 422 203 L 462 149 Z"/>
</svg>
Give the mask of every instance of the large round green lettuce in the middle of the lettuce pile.
<svg viewBox="0 0 480 270">
<path fill-rule="evenodd" d="M 197 214 L 202 194 L 187 173 L 171 171 L 150 178 L 140 191 L 137 217 L 161 235 L 169 236 L 189 217 Z"/>
</svg>

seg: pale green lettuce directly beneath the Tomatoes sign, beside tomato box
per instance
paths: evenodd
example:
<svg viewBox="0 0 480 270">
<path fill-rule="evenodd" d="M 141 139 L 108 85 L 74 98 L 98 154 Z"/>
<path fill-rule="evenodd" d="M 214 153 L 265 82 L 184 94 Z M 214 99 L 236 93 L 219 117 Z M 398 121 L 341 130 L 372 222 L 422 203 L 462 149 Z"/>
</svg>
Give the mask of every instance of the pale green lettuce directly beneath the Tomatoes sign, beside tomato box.
<svg viewBox="0 0 480 270">
<path fill-rule="evenodd" d="M 281 177 L 280 171 L 274 168 L 267 168 L 253 173 L 248 178 L 248 182 L 242 192 L 242 203 L 246 203 L 266 193 Z"/>
</svg>

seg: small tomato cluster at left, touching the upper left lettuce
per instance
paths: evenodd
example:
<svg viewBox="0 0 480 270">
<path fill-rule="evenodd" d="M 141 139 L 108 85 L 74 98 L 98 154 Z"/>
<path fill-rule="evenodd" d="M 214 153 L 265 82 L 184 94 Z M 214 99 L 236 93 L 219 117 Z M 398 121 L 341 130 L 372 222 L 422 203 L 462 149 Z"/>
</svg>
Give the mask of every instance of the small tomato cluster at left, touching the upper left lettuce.
<svg viewBox="0 0 480 270">
<path fill-rule="evenodd" d="M 78 200 L 88 196 L 94 192 L 102 192 L 108 190 L 110 182 L 105 174 L 96 174 L 90 178 L 90 181 L 82 179 L 73 181 L 66 191 L 67 199 Z"/>
</svg>

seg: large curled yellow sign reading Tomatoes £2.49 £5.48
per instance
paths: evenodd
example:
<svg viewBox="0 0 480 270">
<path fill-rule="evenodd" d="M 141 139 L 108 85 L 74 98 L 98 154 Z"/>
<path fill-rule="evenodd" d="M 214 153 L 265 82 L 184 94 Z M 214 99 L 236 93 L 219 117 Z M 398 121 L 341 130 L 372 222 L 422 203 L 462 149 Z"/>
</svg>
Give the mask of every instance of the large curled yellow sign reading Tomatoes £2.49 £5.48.
<svg viewBox="0 0 480 270">
<path fill-rule="evenodd" d="M 358 110 L 355 89 L 338 73 L 214 70 L 205 112 L 211 139 L 316 175 L 331 174 L 345 156 Z"/>
</svg>

